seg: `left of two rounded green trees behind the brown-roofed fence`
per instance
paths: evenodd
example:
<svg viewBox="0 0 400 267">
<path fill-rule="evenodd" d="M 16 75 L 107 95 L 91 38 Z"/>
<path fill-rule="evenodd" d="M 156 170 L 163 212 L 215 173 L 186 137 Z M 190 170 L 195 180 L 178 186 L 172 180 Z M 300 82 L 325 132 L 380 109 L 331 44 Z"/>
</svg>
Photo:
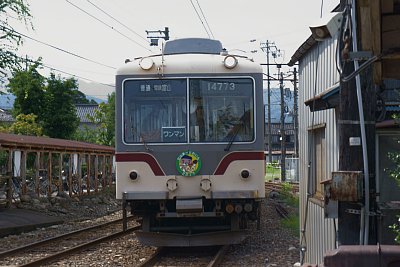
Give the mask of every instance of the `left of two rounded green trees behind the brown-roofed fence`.
<svg viewBox="0 0 400 267">
<path fill-rule="evenodd" d="M 36 62 L 27 70 L 14 71 L 13 77 L 9 79 L 8 91 L 16 97 L 14 117 L 33 113 L 39 120 L 42 119 L 45 78 L 37 71 L 39 64 Z"/>
</svg>

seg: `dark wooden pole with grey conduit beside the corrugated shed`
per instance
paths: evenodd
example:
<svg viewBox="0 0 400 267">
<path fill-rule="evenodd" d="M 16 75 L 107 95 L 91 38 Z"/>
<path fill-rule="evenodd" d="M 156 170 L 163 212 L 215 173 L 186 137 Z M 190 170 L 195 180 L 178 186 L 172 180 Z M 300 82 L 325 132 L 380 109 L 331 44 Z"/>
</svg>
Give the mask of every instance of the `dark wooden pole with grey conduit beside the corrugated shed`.
<svg viewBox="0 0 400 267">
<path fill-rule="evenodd" d="M 352 12 L 355 12 L 355 9 L 356 6 L 353 6 Z M 354 15 L 352 14 L 352 17 Z M 340 51 L 342 54 L 344 52 L 350 54 L 356 48 L 357 33 L 351 31 L 351 34 L 353 35 L 346 34 L 343 38 L 343 49 Z M 345 50 L 346 46 L 350 48 L 349 51 Z M 343 61 L 345 58 L 342 57 L 341 60 Z M 359 69 L 358 63 L 347 62 L 344 65 L 342 77 L 348 77 L 357 69 Z M 372 76 L 371 69 L 366 69 L 365 72 L 359 74 L 359 77 L 356 76 L 348 81 L 341 79 L 340 82 L 340 103 L 337 116 L 339 171 L 360 171 L 364 175 L 364 200 L 357 202 L 339 201 L 338 242 L 341 245 L 375 244 L 377 240 L 377 219 L 370 214 L 371 208 L 372 211 L 376 209 L 372 204 L 375 203 L 374 198 L 376 197 L 374 177 L 376 91 L 372 86 Z M 363 127 L 366 147 L 363 144 Z M 369 178 L 367 181 L 365 180 L 366 177 Z"/>
</svg>

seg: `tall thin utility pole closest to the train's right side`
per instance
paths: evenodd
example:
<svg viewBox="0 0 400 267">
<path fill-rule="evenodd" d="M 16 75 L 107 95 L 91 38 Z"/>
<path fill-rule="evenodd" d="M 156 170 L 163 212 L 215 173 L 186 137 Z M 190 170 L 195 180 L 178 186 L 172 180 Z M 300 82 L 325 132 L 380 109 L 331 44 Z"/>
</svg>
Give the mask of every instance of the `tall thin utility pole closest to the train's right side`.
<svg viewBox="0 0 400 267">
<path fill-rule="evenodd" d="M 269 76 L 269 54 L 271 53 L 273 57 L 277 56 L 279 52 L 274 42 L 261 43 L 260 47 L 263 51 L 267 53 L 267 84 L 268 84 L 268 97 L 267 97 L 267 107 L 268 107 L 268 162 L 272 163 L 272 133 L 271 133 L 271 83 Z M 265 113 L 265 109 L 264 109 Z M 264 120 L 265 125 L 265 120 Z"/>
</svg>

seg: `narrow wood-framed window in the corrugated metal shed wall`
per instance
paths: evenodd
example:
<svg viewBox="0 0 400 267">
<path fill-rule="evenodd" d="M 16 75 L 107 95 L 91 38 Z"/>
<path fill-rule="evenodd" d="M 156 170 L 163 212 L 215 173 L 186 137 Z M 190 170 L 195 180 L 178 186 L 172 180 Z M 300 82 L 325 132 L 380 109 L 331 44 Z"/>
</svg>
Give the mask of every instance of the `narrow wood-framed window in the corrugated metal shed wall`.
<svg viewBox="0 0 400 267">
<path fill-rule="evenodd" d="M 314 128 L 309 132 L 311 179 L 309 190 L 314 198 L 323 199 L 324 187 L 321 184 L 326 180 L 326 140 L 325 127 Z"/>
</svg>

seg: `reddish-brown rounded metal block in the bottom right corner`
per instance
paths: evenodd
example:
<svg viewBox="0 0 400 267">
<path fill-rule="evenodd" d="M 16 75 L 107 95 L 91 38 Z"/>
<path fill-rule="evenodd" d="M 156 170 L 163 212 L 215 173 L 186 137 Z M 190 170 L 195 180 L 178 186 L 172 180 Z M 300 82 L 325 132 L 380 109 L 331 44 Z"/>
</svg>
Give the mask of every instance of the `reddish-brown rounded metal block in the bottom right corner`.
<svg viewBox="0 0 400 267">
<path fill-rule="evenodd" d="M 340 246 L 327 251 L 324 267 L 400 266 L 400 246 Z"/>
</svg>

